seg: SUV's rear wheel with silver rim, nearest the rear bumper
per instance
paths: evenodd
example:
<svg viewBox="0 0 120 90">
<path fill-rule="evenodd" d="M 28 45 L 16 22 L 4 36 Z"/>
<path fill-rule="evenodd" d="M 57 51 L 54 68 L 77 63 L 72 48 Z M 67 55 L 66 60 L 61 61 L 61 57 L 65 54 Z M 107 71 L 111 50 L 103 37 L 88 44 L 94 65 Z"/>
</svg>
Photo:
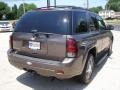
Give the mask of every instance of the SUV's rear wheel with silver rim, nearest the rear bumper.
<svg viewBox="0 0 120 90">
<path fill-rule="evenodd" d="M 94 70 L 94 56 L 92 54 L 89 54 L 87 57 L 87 62 L 85 64 L 83 73 L 78 77 L 79 80 L 84 84 L 90 83 L 92 80 L 93 70 Z"/>
</svg>

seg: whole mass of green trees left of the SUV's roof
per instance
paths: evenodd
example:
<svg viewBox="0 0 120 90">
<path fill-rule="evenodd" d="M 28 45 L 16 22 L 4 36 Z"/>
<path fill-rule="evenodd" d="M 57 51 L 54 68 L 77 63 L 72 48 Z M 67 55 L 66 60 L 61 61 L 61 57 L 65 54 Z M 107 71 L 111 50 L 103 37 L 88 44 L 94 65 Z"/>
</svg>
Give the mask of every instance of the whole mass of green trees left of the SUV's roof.
<svg viewBox="0 0 120 90">
<path fill-rule="evenodd" d="M 25 3 L 24 6 L 25 12 L 37 8 L 35 4 Z M 21 4 L 19 8 L 17 7 L 16 4 L 14 4 L 14 6 L 10 8 L 6 3 L 0 2 L 0 20 L 2 19 L 3 15 L 5 15 L 6 19 L 8 20 L 14 20 L 21 17 L 23 14 L 24 14 L 23 4 Z"/>
</svg>

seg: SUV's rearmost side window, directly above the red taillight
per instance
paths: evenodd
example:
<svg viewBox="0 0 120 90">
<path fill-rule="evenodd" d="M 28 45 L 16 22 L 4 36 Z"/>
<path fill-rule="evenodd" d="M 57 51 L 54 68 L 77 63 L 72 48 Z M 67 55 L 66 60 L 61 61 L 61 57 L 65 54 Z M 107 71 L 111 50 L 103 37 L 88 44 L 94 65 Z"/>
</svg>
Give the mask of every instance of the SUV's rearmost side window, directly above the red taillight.
<svg viewBox="0 0 120 90">
<path fill-rule="evenodd" d="M 85 12 L 75 12 L 73 20 L 74 33 L 87 32 L 87 17 Z"/>
</svg>

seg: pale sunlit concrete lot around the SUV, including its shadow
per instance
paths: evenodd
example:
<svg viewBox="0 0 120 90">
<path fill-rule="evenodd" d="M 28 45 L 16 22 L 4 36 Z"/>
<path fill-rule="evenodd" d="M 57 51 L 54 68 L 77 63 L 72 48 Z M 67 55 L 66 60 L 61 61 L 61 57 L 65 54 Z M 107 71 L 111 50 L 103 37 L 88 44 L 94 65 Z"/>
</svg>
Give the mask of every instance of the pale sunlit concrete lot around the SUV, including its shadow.
<svg viewBox="0 0 120 90">
<path fill-rule="evenodd" d="M 89 85 L 75 79 L 54 80 L 11 66 L 7 59 L 9 33 L 0 33 L 0 90 L 120 90 L 120 31 L 113 31 L 113 54 L 95 69 Z"/>
</svg>

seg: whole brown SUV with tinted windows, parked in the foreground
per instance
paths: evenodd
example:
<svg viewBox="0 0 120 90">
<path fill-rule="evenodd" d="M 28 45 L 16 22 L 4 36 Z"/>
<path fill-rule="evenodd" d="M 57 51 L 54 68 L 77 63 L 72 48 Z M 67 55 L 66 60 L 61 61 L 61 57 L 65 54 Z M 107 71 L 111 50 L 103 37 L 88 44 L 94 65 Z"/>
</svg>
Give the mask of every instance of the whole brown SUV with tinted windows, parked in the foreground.
<svg viewBox="0 0 120 90">
<path fill-rule="evenodd" d="M 9 62 L 19 69 L 89 83 L 94 66 L 112 51 L 112 26 L 80 7 L 26 13 L 10 37 Z"/>
</svg>

